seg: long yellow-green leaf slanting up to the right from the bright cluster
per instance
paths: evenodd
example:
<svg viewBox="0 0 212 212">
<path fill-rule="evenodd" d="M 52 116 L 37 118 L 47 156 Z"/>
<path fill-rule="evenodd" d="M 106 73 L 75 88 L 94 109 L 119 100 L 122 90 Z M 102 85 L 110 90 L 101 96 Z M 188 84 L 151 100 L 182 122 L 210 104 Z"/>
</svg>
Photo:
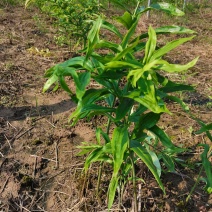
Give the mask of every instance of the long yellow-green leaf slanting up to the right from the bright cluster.
<svg viewBox="0 0 212 212">
<path fill-rule="evenodd" d="M 163 55 L 165 55 L 166 53 L 170 52 L 172 49 L 176 48 L 177 46 L 192 40 L 195 36 L 191 36 L 188 38 L 180 38 L 174 41 L 171 41 L 169 43 L 167 43 L 165 46 L 163 46 L 162 48 L 156 50 L 154 52 L 154 54 L 152 55 L 150 61 L 156 60 L 156 59 L 160 59 Z"/>
</svg>

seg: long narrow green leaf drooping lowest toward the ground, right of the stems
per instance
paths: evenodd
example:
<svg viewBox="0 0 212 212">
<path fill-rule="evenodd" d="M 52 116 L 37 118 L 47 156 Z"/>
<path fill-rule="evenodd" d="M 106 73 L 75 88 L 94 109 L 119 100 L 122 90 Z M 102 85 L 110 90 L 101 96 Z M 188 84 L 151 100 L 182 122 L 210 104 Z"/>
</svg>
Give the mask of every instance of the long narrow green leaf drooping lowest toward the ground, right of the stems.
<svg viewBox="0 0 212 212">
<path fill-rule="evenodd" d="M 165 193 L 165 188 L 163 186 L 163 183 L 160 180 L 157 169 L 152 161 L 152 157 L 150 156 L 146 148 L 143 147 L 139 142 L 136 142 L 134 140 L 130 141 L 130 148 L 146 164 L 146 166 L 149 168 L 149 170 L 152 172 L 153 176 L 155 177 L 156 181 L 158 182 L 160 188 Z"/>
</svg>

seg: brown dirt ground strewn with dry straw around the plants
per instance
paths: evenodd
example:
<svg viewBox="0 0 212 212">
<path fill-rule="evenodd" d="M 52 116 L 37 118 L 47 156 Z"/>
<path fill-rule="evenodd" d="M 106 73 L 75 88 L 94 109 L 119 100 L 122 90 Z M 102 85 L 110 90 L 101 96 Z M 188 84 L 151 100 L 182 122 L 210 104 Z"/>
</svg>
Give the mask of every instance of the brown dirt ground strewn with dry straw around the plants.
<svg viewBox="0 0 212 212">
<path fill-rule="evenodd" d="M 192 42 L 167 56 L 177 63 L 200 56 L 198 64 L 186 75 L 169 77 L 197 86 L 195 93 L 182 94 L 182 98 L 199 118 L 210 122 L 212 11 L 202 8 L 192 17 L 181 19 L 164 16 L 160 22 L 158 17 L 143 18 L 138 30 L 146 30 L 149 23 L 175 23 L 198 33 Z M 60 90 L 42 93 L 44 71 L 73 55 L 68 48 L 55 45 L 55 30 L 49 21 L 44 22 L 36 9 L 0 4 L 0 211 L 107 211 L 110 168 L 105 168 L 97 198 L 98 164 L 91 167 L 85 179 L 83 157 L 76 156 L 76 146 L 93 139 L 95 124 L 80 122 L 70 127 L 67 118 L 75 105 L 68 95 Z M 169 38 L 161 37 L 159 41 L 166 39 Z M 167 192 L 163 195 L 152 175 L 140 164 L 137 175 L 146 182 L 139 185 L 142 211 L 212 211 L 212 196 L 204 192 L 202 182 L 188 204 L 184 204 L 198 175 L 199 166 L 194 162 L 198 162 L 202 149 L 197 144 L 209 141 L 205 135 L 192 133 L 199 129 L 198 124 L 177 105 L 169 107 L 175 115 L 164 115 L 161 124 L 176 144 L 192 150 L 181 156 L 191 169 L 178 165 L 177 173 L 163 174 Z M 133 211 L 132 196 L 131 185 L 127 185 L 123 211 Z M 118 211 L 116 203 L 111 211 Z"/>
</svg>

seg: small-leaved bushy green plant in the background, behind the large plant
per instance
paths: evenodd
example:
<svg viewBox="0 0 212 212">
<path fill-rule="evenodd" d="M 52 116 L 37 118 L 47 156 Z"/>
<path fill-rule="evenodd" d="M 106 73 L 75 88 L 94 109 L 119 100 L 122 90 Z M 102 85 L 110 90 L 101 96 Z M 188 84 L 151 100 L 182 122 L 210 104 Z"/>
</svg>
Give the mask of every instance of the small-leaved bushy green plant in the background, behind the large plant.
<svg viewBox="0 0 212 212">
<path fill-rule="evenodd" d="M 54 18 L 54 25 L 58 28 L 56 40 L 59 44 L 72 46 L 74 41 L 75 45 L 85 45 L 91 28 L 91 23 L 86 20 L 94 18 L 98 13 L 96 0 L 26 0 L 25 7 L 32 2 Z"/>
</svg>

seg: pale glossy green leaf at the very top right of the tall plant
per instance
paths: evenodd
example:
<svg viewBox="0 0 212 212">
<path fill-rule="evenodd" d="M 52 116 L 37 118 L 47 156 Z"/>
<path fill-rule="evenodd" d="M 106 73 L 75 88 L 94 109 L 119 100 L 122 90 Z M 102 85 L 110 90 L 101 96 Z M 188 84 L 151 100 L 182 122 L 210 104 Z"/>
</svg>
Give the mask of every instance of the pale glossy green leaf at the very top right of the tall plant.
<svg viewBox="0 0 212 212">
<path fill-rule="evenodd" d="M 173 5 L 171 5 L 169 3 L 165 3 L 165 2 L 151 4 L 150 8 L 160 10 L 160 11 L 163 11 L 170 15 L 175 15 L 175 16 L 183 16 L 185 14 L 183 11 L 181 11 L 181 10 L 177 9 L 176 7 L 174 7 Z"/>
</svg>

